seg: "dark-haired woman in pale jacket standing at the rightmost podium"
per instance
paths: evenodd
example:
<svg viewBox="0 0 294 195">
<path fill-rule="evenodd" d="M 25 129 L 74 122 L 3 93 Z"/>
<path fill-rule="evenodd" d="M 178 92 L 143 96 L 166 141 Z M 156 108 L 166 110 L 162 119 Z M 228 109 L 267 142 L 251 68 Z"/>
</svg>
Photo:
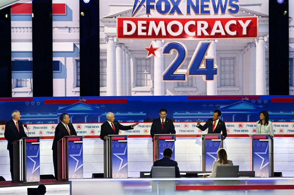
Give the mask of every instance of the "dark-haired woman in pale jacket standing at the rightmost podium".
<svg viewBox="0 0 294 195">
<path fill-rule="evenodd" d="M 270 134 L 274 137 L 273 123 L 269 121 L 268 111 L 260 111 L 259 119 L 256 122 L 256 134 Z"/>
</svg>

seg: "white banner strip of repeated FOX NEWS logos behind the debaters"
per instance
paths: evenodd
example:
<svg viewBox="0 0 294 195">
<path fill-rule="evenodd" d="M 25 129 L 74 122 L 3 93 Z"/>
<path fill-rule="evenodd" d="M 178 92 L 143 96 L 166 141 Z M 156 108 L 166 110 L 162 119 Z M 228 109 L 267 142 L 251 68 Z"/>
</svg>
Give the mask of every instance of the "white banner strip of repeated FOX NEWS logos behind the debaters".
<svg viewBox="0 0 294 195">
<path fill-rule="evenodd" d="M 100 135 L 102 123 L 72 123 L 77 134 L 81 136 Z M 131 125 L 133 123 L 122 122 L 122 125 Z M 205 122 L 201 123 L 202 125 Z M 52 137 L 55 135 L 55 128 L 58 124 L 28 124 L 29 136 Z M 119 131 L 120 135 L 150 135 L 152 122 L 140 122 L 133 130 Z M 202 135 L 207 134 L 197 128 L 197 122 L 174 122 L 176 135 Z M 226 122 L 228 135 L 248 135 L 256 133 L 256 122 Z M 0 125 L 0 137 L 4 137 L 5 125 Z M 293 135 L 294 122 L 273 122 L 275 135 Z"/>
</svg>

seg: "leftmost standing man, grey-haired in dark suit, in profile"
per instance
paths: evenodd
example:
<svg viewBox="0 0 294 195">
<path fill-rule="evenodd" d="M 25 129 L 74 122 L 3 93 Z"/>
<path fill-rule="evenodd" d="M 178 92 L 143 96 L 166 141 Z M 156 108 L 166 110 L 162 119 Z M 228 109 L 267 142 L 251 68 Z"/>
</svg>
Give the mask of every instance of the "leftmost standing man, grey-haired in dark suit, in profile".
<svg viewBox="0 0 294 195">
<path fill-rule="evenodd" d="M 5 125 L 4 137 L 8 141 L 7 149 L 9 151 L 10 158 L 10 173 L 11 173 L 11 182 L 14 182 L 13 176 L 13 145 L 16 144 L 16 141 L 23 138 L 28 137 L 24 132 L 24 127 L 22 123 L 19 121 L 21 115 L 18 110 L 14 110 L 11 112 L 12 119 L 8 121 Z"/>
</svg>

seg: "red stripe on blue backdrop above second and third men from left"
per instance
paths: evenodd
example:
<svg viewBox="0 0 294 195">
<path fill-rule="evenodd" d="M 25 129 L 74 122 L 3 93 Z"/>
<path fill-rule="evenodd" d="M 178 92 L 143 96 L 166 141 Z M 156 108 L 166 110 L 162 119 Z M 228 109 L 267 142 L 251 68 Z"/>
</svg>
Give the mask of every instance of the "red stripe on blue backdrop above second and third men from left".
<svg viewBox="0 0 294 195">
<path fill-rule="evenodd" d="M 74 104 L 80 102 L 80 99 L 56 99 L 44 100 L 44 104 Z M 106 104 L 106 103 L 128 103 L 128 99 L 87 99 L 83 103 L 88 104 Z"/>
</svg>

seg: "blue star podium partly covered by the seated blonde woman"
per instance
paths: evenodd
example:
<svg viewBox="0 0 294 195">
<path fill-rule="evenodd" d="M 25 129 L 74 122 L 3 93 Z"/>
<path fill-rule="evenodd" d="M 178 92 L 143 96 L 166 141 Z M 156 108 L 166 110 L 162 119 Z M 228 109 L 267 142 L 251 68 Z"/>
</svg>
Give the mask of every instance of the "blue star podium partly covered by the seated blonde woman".
<svg viewBox="0 0 294 195">
<path fill-rule="evenodd" d="M 212 171 L 212 164 L 218 159 L 217 151 L 223 148 L 222 134 L 201 135 L 202 171 Z"/>
</svg>

